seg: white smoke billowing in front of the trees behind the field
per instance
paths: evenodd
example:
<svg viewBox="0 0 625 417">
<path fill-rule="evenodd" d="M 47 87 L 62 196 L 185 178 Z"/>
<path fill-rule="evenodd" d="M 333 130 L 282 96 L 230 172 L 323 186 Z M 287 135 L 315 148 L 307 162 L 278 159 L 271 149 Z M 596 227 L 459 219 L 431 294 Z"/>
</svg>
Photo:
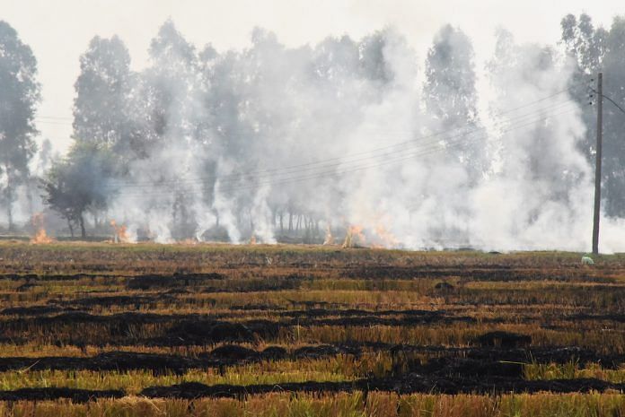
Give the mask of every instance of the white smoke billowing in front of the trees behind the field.
<svg viewBox="0 0 625 417">
<path fill-rule="evenodd" d="M 499 31 L 480 67 L 447 27 L 425 65 L 392 29 L 301 48 L 255 30 L 198 53 L 163 28 L 128 99 L 145 154 L 107 186 L 134 239 L 274 243 L 299 223 L 398 248 L 589 248 L 593 172 L 558 50 Z M 603 220 L 604 251 L 622 230 Z"/>
</svg>

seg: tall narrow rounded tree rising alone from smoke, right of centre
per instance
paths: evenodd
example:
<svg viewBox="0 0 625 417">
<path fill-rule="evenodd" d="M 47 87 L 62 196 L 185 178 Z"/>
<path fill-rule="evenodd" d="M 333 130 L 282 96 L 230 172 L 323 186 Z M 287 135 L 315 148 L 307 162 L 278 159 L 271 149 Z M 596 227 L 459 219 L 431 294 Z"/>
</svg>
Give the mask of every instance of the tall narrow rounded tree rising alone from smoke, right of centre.
<svg viewBox="0 0 625 417">
<path fill-rule="evenodd" d="M 427 52 L 424 98 L 440 130 L 478 126 L 474 52 L 471 39 L 451 25 L 438 31 Z M 452 143 L 448 143 L 451 145 Z M 450 147 L 449 152 L 478 176 L 484 167 L 484 143 Z"/>
</svg>

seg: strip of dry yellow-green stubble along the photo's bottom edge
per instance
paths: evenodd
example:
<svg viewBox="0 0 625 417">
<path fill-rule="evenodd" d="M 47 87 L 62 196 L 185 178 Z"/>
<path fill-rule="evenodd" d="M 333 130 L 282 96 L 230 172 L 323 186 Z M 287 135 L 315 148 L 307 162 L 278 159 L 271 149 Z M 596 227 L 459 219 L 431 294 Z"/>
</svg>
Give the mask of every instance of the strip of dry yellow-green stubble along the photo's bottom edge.
<svg viewBox="0 0 625 417">
<path fill-rule="evenodd" d="M 231 399 L 149 400 L 127 397 L 89 404 L 0 404 L 0 416 L 48 417 L 618 417 L 625 396 L 570 395 L 258 395 Z"/>
</svg>

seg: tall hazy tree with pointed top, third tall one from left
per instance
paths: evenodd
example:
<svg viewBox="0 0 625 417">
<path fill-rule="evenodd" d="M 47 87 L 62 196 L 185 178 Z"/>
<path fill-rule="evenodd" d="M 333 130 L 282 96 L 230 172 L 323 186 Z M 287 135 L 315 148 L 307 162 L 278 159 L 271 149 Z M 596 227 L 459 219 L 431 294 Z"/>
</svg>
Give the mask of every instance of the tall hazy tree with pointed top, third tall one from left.
<svg viewBox="0 0 625 417">
<path fill-rule="evenodd" d="M 157 178 L 156 187 L 167 195 L 172 204 L 172 236 L 174 239 L 194 235 L 196 212 L 193 198 L 181 195 L 198 195 L 203 198 L 207 187 L 191 183 L 188 175 L 206 175 L 198 170 L 203 164 L 204 146 L 207 144 L 207 117 L 204 84 L 200 74 L 198 54 L 171 20 L 163 23 L 152 39 L 149 48 L 151 65 L 142 74 L 142 97 L 145 107 L 141 111 L 148 123 L 145 125 L 145 142 L 151 146 L 150 164 Z M 214 51 L 205 50 L 203 59 L 210 60 Z M 185 165 L 166 164 L 169 155 L 185 152 L 189 159 Z M 159 163 L 163 161 L 163 163 Z M 174 184 L 174 187 L 167 187 Z M 146 207 L 149 211 L 151 208 Z"/>
</svg>

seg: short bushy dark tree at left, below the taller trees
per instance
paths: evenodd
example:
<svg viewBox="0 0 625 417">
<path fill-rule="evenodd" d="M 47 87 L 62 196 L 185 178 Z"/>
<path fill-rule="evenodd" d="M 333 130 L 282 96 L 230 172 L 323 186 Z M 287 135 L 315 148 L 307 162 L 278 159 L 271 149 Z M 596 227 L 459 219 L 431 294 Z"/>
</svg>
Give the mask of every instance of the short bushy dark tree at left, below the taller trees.
<svg viewBox="0 0 625 417">
<path fill-rule="evenodd" d="M 45 202 L 67 221 L 72 237 L 78 225 L 86 238 L 84 213 L 106 207 L 112 195 L 108 178 L 115 171 L 113 154 L 106 147 L 76 142 L 64 160 L 55 161 L 43 180 Z"/>
</svg>

